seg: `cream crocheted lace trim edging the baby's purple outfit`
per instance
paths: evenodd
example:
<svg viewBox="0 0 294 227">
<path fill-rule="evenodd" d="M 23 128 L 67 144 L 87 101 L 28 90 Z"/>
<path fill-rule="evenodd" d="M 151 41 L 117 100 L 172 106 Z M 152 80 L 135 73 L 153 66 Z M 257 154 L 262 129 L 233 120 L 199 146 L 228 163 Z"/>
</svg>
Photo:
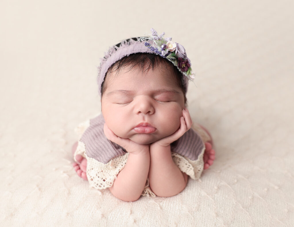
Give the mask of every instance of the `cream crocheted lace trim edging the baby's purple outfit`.
<svg viewBox="0 0 294 227">
<path fill-rule="evenodd" d="M 80 123 L 76 128 L 75 132 L 78 134 L 79 138 L 82 136 L 83 132 L 90 125 L 90 121 L 85 121 Z M 209 141 L 210 136 L 197 124 L 193 125 L 193 128 L 198 132 L 203 141 Z M 178 153 L 172 152 L 173 161 L 176 163 L 178 168 L 190 176 L 192 179 L 199 179 L 201 173 L 203 171 L 203 154 L 205 151 L 205 147 L 199 154 L 197 160 L 193 161 L 189 158 L 183 157 Z M 81 156 L 87 159 L 87 178 L 91 187 L 96 189 L 105 189 L 112 186 L 113 182 L 116 179 L 118 173 L 123 169 L 126 165 L 126 161 L 128 159 L 128 154 L 126 153 L 122 156 L 118 156 L 116 158 L 111 159 L 108 163 L 104 164 L 102 162 L 97 161 L 94 158 L 90 158 L 86 155 L 86 146 L 83 142 L 78 141 L 78 146 L 74 153 L 74 159 L 76 161 L 76 155 L 80 154 Z M 149 187 L 149 179 L 147 178 L 145 188 L 142 192 L 142 196 L 153 196 L 156 195 L 151 191 Z"/>
</svg>

